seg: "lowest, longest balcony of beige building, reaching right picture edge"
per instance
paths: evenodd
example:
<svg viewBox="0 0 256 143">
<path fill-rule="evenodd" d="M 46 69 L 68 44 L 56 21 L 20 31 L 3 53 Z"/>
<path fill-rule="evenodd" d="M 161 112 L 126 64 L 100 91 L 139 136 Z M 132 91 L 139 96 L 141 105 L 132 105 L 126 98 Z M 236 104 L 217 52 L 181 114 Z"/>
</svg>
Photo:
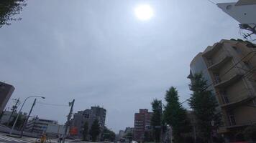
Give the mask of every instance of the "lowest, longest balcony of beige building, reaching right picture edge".
<svg viewBox="0 0 256 143">
<path fill-rule="evenodd" d="M 229 102 L 224 102 L 224 104 L 221 104 L 221 108 L 223 109 L 231 109 L 234 107 L 237 107 L 241 104 L 245 104 L 247 102 L 250 102 L 252 99 L 255 99 L 255 94 L 251 89 L 244 89 L 242 92 L 237 93 L 236 97 L 229 98 Z"/>
</svg>

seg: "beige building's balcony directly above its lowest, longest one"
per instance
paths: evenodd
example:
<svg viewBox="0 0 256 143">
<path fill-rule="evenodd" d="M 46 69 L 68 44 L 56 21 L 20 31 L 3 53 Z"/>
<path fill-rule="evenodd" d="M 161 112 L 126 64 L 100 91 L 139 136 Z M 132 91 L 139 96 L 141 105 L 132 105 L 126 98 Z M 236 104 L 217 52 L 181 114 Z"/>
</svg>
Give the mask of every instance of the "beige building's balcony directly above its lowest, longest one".
<svg viewBox="0 0 256 143">
<path fill-rule="evenodd" d="M 241 73 L 234 74 L 234 76 L 230 77 L 227 80 L 217 81 L 216 84 L 214 84 L 214 87 L 223 89 L 225 87 L 230 86 L 231 84 L 234 84 L 234 82 L 237 82 L 241 77 L 242 77 Z"/>
</svg>

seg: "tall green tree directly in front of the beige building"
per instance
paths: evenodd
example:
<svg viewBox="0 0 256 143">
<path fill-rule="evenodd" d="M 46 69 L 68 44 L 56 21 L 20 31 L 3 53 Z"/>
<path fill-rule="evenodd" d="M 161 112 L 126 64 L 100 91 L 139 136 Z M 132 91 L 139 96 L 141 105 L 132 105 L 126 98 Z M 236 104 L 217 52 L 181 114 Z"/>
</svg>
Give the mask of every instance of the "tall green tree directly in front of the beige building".
<svg viewBox="0 0 256 143">
<path fill-rule="evenodd" d="M 206 90 L 208 86 L 202 74 L 195 74 L 191 78 L 189 87 L 193 94 L 191 94 L 188 104 L 196 116 L 197 126 L 201 132 L 199 136 L 204 139 L 204 142 L 209 142 L 211 132 L 221 124 L 221 114 L 216 111 L 216 107 L 218 107 L 216 97 L 211 91 Z M 214 127 L 212 126 L 213 122 Z"/>
</svg>

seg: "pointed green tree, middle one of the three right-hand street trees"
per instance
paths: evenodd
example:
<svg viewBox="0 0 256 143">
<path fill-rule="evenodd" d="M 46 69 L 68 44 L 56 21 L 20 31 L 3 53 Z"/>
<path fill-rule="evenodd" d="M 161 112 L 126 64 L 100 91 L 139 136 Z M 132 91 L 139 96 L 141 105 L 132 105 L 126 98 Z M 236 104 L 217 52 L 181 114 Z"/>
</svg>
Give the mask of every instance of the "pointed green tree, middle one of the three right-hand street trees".
<svg viewBox="0 0 256 143">
<path fill-rule="evenodd" d="M 173 137 L 175 143 L 183 141 L 182 134 L 191 131 L 190 122 L 188 120 L 186 109 L 184 109 L 178 101 L 178 91 L 175 87 L 170 87 L 165 95 L 165 111 L 164 120 L 173 129 Z"/>
</svg>

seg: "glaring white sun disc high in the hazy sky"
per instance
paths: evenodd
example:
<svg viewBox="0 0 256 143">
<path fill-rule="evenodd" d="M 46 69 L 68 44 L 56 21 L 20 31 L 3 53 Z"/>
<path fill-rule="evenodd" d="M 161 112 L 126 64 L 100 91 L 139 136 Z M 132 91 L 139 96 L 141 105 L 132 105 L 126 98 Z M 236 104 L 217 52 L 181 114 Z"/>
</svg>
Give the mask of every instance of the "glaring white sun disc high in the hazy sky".
<svg viewBox="0 0 256 143">
<path fill-rule="evenodd" d="M 154 15 L 152 7 L 147 4 L 136 6 L 134 12 L 137 18 L 143 21 L 151 19 Z"/>
</svg>

